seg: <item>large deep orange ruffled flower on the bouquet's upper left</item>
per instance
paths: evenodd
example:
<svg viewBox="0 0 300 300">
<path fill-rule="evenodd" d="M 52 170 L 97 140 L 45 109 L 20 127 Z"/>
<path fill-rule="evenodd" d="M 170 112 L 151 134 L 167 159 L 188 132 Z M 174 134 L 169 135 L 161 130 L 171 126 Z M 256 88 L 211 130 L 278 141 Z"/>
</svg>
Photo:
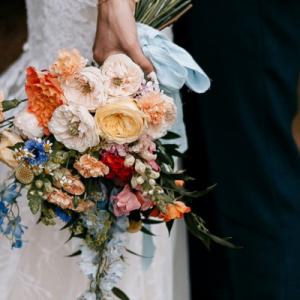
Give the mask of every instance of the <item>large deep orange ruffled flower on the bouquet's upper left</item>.
<svg viewBox="0 0 300 300">
<path fill-rule="evenodd" d="M 57 78 L 49 72 L 38 72 L 35 68 L 27 68 L 25 90 L 28 96 L 28 111 L 33 113 L 49 135 L 48 123 L 54 110 L 63 104 L 63 91 Z"/>
</svg>

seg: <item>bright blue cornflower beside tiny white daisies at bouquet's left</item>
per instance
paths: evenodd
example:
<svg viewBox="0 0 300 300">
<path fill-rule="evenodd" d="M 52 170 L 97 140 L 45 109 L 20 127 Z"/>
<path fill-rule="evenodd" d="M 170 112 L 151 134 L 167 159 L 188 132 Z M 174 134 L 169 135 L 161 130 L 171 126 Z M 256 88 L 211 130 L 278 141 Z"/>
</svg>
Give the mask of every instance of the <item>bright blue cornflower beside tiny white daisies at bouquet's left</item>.
<svg viewBox="0 0 300 300">
<path fill-rule="evenodd" d="M 28 140 L 25 142 L 24 150 L 32 154 L 26 160 L 32 166 L 43 165 L 49 160 L 49 156 L 45 150 L 45 143 L 41 140 Z"/>
</svg>

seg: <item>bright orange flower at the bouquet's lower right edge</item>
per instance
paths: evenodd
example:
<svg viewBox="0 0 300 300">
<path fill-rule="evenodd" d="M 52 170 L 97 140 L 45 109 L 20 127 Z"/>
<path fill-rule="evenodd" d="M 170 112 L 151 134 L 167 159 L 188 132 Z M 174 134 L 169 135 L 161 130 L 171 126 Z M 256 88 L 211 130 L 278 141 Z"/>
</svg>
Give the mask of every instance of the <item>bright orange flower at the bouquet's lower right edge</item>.
<svg viewBox="0 0 300 300">
<path fill-rule="evenodd" d="M 186 206 L 181 201 L 175 201 L 174 203 L 167 204 L 166 210 L 166 213 L 162 213 L 155 208 L 152 211 L 151 216 L 158 217 L 164 219 L 165 222 L 169 222 L 171 220 L 181 219 L 183 218 L 184 214 L 191 212 L 191 208 Z"/>
</svg>

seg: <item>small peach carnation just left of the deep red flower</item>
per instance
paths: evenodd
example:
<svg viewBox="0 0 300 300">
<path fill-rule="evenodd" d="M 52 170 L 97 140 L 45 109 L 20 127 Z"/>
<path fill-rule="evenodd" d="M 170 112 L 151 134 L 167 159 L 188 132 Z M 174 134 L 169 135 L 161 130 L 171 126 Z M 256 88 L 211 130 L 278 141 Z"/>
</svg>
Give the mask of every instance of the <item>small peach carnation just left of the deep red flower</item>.
<svg viewBox="0 0 300 300">
<path fill-rule="evenodd" d="M 109 173 L 108 166 L 89 154 L 81 156 L 74 168 L 84 178 L 102 177 Z"/>
</svg>

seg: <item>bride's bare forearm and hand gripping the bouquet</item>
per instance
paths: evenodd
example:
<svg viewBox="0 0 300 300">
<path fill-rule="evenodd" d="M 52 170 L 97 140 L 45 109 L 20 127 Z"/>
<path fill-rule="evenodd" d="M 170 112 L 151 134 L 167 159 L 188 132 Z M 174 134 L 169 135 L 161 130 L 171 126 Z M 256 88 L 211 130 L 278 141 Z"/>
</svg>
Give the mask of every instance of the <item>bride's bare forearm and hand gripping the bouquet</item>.
<svg viewBox="0 0 300 300">
<path fill-rule="evenodd" d="M 139 45 L 134 8 L 134 0 L 100 2 L 94 59 L 101 64 L 111 54 L 125 53 L 148 74 L 153 66 Z"/>
</svg>

